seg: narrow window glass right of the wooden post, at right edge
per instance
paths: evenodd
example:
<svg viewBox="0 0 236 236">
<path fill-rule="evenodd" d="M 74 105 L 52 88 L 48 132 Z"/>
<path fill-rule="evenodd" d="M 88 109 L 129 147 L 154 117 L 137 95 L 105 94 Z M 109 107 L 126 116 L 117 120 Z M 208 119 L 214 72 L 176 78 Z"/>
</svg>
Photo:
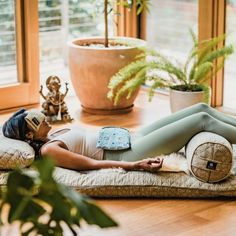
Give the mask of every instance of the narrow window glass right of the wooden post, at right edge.
<svg viewBox="0 0 236 236">
<path fill-rule="evenodd" d="M 226 43 L 236 45 L 236 1 L 227 0 L 226 8 Z M 224 70 L 224 100 L 225 107 L 236 109 L 236 53 L 225 63 Z"/>
</svg>

